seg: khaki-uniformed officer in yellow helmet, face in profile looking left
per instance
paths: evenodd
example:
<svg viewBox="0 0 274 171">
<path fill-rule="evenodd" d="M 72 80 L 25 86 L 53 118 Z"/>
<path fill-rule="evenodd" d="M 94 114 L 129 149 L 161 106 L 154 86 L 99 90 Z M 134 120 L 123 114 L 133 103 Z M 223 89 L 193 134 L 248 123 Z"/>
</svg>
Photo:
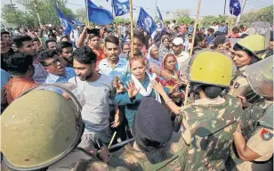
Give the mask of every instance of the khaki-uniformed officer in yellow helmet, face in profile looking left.
<svg viewBox="0 0 274 171">
<path fill-rule="evenodd" d="M 246 80 L 245 69 L 248 65 L 262 60 L 262 50 L 266 49 L 265 38 L 261 35 L 251 35 L 240 39 L 234 46 L 233 61 L 237 71 L 232 77 L 230 93 L 234 97 L 246 96 L 248 102 L 255 102 L 259 97 L 253 94 Z"/>
</svg>

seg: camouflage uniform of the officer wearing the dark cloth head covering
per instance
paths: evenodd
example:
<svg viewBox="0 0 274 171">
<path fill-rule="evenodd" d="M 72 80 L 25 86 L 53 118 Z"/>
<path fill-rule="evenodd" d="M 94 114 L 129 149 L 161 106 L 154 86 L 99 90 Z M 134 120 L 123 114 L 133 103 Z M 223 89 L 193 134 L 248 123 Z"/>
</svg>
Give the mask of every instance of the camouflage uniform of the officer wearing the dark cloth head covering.
<svg viewBox="0 0 274 171">
<path fill-rule="evenodd" d="M 121 151 L 111 154 L 109 164 L 111 166 L 123 166 L 130 170 L 178 170 L 183 169 L 183 159 L 185 159 L 188 146 L 181 138 L 180 134 L 173 133 L 170 142 L 165 145 L 167 159 L 163 162 L 152 165 L 146 155 L 138 150 L 135 143 L 133 146 L 126 145 Z"/>
</svg>

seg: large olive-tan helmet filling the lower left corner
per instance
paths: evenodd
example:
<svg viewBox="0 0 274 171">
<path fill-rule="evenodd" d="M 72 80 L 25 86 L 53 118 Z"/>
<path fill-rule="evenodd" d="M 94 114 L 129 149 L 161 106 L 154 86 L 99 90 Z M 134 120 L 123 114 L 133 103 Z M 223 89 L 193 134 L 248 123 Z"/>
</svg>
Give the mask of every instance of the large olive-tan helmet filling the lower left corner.
<svg viewBox="0 0 274 171">
<path fill-rule="evenodd" d="M 69 154 L 83 134 L 75 99 L 38 89 L 12 102 L 1 116 L 1 151 L 6 166 L 37 170 Z"/>
</svg>

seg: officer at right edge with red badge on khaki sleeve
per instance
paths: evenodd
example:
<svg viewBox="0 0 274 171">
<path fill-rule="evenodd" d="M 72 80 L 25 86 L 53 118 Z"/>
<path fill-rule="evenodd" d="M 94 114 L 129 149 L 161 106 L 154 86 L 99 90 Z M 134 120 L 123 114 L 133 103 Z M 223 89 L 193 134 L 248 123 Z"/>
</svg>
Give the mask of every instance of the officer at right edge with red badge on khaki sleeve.
<svg viewBox="0 0 274 171">
<path fill-rule="evenodd" d="M 244 111 L 234 134 L 242 160 L 234 161 L 238 170 L 273 170 L 273 56 L 246 67 L 246 77 L 263 99 Z"/>
</svg>

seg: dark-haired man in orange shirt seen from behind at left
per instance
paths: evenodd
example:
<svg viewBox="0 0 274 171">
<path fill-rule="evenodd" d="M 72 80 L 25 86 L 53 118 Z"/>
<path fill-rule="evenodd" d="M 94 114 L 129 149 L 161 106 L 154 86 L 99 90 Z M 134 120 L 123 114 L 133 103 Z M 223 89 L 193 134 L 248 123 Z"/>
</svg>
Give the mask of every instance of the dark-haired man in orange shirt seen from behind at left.
<svg viewBox="0 0 274 171">
<path fill-rule="evenodd" d="M 5 85 L 7 102 L 11 104 L 20 94 L 36 86 L 31 78 L 35 69 L 33 58 L 28 53 L 14 53 L 6 60 L 12 78 Z"/>
</svg>

